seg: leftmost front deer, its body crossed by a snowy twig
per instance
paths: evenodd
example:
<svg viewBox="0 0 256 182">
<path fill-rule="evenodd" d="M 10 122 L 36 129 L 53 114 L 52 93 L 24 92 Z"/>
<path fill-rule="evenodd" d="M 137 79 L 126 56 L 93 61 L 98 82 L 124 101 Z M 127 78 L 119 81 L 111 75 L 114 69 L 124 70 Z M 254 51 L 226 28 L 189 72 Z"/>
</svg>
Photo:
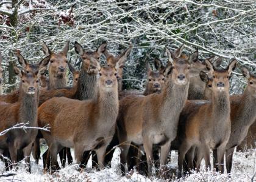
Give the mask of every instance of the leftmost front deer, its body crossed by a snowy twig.
<svg viewBox="0 0 256 182">
<path fill-rule="evenodd" d="M 44 58 L 50 59 L 50 56 Z M 44 61 L 46 61 L 44 60 Z M 46 67 L 40 70 L 44 71 Z M 40 71 L 35 73 L 24 73 L 14 67 L 16 75 L 20 76 L 20 96 L 16 103 L 0 102 L 0 130 L 9 129 L 18 123 L 28 123 L 26 126 L 37 127 L 37 107 L 39 96 Z M 2 150 L 9 150 L 10 158 L 13 164 L 18 161 L 17 152 L 23 150 L 25 161 L 30 172 L 30 152 L 31 146 L 37 135 L 37 129 L 13 129 L 5 135 L 0 136 L 0 147 Z"/>
</svg>

